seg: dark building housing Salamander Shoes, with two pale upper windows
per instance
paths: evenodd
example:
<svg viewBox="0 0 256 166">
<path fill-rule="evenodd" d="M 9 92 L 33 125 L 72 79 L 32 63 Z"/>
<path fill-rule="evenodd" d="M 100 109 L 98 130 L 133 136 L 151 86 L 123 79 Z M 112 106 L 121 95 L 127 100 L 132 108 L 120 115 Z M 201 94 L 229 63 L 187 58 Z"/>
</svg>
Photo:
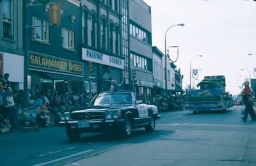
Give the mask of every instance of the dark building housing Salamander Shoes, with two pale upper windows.
<svg viewBox="0 0 256 166">
<path fill-rule="evenodd" d="M 56 3 L 58 1 L 49 1 Z M 33 4 L 41 4 L 35 1 Z M 84 64 L 81 63 L 80 1 L 61 1 L 61 20 L 49 22 L 51 6 L 29 6 L 28 75 L 31 94 L 39 91 L 83 91 Z M 28 34 L 27 34 L 28 35 Z"/>
</svg>

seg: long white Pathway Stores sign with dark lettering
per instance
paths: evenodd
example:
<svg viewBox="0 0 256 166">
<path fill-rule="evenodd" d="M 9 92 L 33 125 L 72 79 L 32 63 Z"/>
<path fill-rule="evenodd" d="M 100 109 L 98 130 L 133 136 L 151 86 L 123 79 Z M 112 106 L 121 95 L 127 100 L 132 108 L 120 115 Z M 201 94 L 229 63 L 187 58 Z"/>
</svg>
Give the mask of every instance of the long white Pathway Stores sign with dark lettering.
<svg viewBox="0 0 256 166">
<path fill-rule="evenodd" d="M 93 61 L 95 63 L 113 66 L 114 68 L 124 69 L 124 59 L 108 56 L 94 50 L 84 49 L 82 52 L 82 59 L 86 61 Z"/>
</svg>

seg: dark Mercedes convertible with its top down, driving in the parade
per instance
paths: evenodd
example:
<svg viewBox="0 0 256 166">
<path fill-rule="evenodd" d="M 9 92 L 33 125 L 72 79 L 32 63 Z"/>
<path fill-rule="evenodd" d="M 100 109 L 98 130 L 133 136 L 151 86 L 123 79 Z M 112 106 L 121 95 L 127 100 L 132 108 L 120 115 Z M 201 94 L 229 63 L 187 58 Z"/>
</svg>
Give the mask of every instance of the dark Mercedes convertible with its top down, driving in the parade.
<svg viewBox="0 0 256 166">
<path fill-rule="evenodd" d="M 134 128 L 153 132 L 159 118 L 155 105 L 136 102 L 132 92 L 100 93 L 86 109 L 65 112 L 59 124 L 65 126 L 70 140 L 79 139 L 81 133 L 108 131 L 129 138 Z"/>
</svg>

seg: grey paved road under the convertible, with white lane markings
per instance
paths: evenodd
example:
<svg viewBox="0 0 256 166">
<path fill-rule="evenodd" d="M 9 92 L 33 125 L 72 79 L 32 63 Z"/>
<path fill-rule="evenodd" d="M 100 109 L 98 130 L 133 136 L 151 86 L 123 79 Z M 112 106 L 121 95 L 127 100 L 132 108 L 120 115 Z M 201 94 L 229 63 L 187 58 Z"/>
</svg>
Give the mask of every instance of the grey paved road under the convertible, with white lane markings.
<svg viewBox="0 0 256 166">
<path fill-rule="evenodd" d="M 256 165 L 256 122 L 228 112 L 161 113 L 156 131 L 131 139 L 85 133 L 71 142 L 64 128 L 0 135 L 0 165 Z"/>
</svg>

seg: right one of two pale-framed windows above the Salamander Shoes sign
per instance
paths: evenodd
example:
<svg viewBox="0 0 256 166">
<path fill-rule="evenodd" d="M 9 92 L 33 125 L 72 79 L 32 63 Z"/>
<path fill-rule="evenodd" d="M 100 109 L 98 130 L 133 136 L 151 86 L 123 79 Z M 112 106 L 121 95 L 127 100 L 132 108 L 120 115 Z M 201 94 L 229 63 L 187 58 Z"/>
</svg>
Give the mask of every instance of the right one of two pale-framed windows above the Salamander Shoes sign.
<svg viewBox="0 0 256 166">
<path fill-rule="evenodd" d="M 62 28 L 62 47 L 74 50 L 74 31 Z"/>
</svg>

